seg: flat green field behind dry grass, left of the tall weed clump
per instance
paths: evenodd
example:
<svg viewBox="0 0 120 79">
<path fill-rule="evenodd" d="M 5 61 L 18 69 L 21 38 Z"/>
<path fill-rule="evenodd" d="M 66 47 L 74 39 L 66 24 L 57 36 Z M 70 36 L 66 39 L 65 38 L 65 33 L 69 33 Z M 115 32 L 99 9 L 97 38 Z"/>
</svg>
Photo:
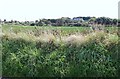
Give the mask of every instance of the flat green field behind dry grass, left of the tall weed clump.
<svg viewBox="0 0 120 79">
<path fill-rule="evenodd" d="M 60 31 L 61 34 L 69 34 L 69 33 L 75 33 L 75 32 L 81 32 L 81 31 L 88 31 L 89 28 L 84 27 L 53 27 L 53 26 L 44 26 L 44 27 L 33 27 L 33 26 L 3 26 L 3 32 L 10 31 L 12 27 L 13 32 L 30 32 L 30 31 L 52 31 L 57 30 Z"/>
</svg>

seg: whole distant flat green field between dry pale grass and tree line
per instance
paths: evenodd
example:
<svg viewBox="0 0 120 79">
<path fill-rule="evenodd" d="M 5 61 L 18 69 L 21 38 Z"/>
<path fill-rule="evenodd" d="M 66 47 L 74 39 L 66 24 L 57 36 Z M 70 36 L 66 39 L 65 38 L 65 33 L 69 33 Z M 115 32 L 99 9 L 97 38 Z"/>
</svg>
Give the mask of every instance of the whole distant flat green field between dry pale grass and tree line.
<svg viewBox="0 0 120 79">
<path fill-rule="evenodd" d="M 3 32 L 32 32 L 32 31 L 53 31 L 56 30 L 62 35 L 74 34 L 74 33 L 89 33 L 91 31 L 90 27 L 64 27 L 64 26 L 19 26 L 19 25 L 3 25 Z M 105 30 L 109 30 L 110 33 L 118 31 L 118 27 L 106 27 Z"/>
</svg>

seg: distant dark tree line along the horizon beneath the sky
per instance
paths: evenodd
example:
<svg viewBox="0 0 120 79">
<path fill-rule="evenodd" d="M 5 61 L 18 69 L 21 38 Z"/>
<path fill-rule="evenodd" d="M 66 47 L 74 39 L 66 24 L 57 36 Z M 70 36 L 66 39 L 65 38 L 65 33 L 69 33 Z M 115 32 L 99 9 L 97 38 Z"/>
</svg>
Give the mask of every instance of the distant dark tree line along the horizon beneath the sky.
<svg viewBox="0 0 120 79">
<path fill-rule="evenodd" d="M 58 19 L 39 19 L 35 21 L 16 21 L 11 20 L 7 21 L 4 19 L 0 20 L 0 23 L 3 24 L 15 24 L 15 25 L 24 25 L 24 26 L 89 26 L 89 24 L 101 24 L 106 26 L 117 26 L 118 19 L 111 19 L 108 17 L 61 17 Z"/>
</svg>

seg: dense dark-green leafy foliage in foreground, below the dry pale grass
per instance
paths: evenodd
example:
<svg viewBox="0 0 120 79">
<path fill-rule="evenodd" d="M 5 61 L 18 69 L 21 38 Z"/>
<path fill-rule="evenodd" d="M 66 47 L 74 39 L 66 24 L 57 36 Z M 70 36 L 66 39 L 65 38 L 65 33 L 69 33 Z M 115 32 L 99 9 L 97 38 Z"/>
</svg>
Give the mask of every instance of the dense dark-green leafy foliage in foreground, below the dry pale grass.
<svg viewBox="0 0 120 79">
<path fill-rule="evenodd" d="M 100 35 L 100 34 L 99 34 Z M 114 38 L 117 36 L 113 36 Z M 98 40 L 97 40 L 98 38 Z M 108 44 L 105 39 L 109 38 Z M 26 41 L 2 37 L 3 76 L 6 77 L 115 77 L 117 46 L 100 35 L 82 45 L 55 41 Z"/>
</svg>

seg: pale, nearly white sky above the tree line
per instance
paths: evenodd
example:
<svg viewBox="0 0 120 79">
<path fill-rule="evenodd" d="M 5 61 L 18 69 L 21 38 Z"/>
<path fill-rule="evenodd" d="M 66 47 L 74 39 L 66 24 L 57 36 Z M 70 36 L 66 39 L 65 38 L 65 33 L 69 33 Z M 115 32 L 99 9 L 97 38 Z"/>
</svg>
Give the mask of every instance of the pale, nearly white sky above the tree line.
<svg viewBox="0 0 120 79">
<path fill-rule="evenodd" d="M 95 16 L 118 18 L 120 0 L 0 0 L 0 19 L 34 21 L 42 18 Z"/>
</svg>

